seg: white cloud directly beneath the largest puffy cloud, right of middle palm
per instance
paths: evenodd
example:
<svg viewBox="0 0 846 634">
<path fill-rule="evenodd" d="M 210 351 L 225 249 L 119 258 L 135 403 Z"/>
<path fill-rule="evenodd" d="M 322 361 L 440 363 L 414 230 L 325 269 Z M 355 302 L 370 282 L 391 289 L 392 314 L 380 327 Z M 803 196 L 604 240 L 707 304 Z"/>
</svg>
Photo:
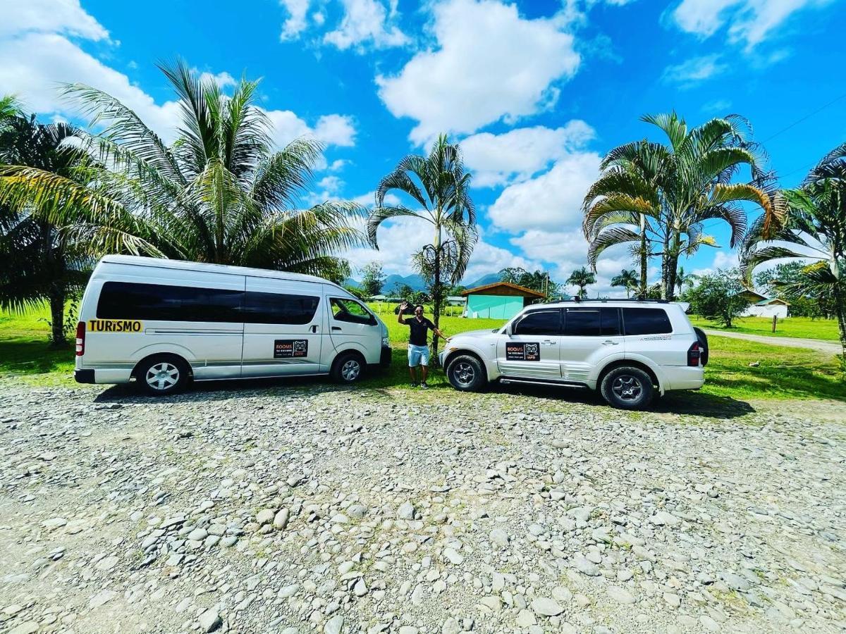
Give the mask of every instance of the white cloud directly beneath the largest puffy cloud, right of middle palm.
<svg viewBox="0 0 846 634">
<path fill-rule="evenodd" d="M 594 129 L 574 119 L 561 128 L 515 128 L 504 134 L 483 132 L 461 141 L 464 162 L 473 170 L 475 187 L 493 187 L 525 180 L 568 156 L 595 136 Z"/>
</svg>

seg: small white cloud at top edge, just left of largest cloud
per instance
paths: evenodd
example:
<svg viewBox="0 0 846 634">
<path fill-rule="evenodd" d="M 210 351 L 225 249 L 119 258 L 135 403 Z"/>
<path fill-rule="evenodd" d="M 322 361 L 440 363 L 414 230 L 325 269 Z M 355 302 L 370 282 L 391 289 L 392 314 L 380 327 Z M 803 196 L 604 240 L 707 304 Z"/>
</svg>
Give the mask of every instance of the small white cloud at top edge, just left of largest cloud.
<svg viewBox="0 0 846 634">
<path fill-rule="evenodd" d="M 355 46 L 362 51 L 365 44 L 376 48 L 404 46 L 409 43 L 406 36 L 391 19 L 397 12 L 396 3 L 392 3 L 390 14 L 377 0 L 341 0 L 343 19 L 338 29 L 323 37 L 323 41 L 345 51 Z"/>
</svg>

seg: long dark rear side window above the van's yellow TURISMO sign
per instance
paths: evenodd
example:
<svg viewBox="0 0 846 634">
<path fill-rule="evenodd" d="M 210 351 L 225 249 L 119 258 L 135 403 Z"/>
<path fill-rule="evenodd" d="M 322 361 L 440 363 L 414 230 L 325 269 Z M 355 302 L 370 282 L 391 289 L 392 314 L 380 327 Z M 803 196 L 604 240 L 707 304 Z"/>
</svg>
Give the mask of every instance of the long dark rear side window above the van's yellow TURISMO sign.
<svg viewBox="0 0 846 634">
<path fill-rule="evenodd" d="M 97 301 L 97 318 L 240 323 L 243 298 L 243 291 L 225 288 L 107 281 Z"/>
</svg>

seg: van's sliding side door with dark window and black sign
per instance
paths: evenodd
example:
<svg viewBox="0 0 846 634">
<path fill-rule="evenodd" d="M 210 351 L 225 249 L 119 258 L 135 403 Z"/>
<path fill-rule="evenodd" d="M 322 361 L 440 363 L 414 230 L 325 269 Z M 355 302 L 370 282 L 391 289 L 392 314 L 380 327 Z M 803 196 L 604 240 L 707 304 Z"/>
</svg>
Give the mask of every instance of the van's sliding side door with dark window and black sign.
<svg viewBox="0 0 846 634">
<path fill-rule="evenodd" d="M 247 277 L 242 376 L 326 372 L 321 366 L 321 285 Z"/>
</svg>

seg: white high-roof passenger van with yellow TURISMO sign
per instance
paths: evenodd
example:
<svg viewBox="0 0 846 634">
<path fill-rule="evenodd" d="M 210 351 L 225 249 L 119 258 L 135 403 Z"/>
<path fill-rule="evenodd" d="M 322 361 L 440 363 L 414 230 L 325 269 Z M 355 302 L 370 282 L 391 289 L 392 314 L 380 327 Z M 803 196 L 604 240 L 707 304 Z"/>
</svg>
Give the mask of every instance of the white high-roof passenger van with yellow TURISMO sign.
<svg viewBox="0 0 846 634">
<path fill-rule="evenodd" d="M 391 362 L 387 327 L 320 277 L 108 255 L 76 328 L 80 383 L 151 394 L 191 380 L 331 374 L 344 383 Z"/>
</svg>

